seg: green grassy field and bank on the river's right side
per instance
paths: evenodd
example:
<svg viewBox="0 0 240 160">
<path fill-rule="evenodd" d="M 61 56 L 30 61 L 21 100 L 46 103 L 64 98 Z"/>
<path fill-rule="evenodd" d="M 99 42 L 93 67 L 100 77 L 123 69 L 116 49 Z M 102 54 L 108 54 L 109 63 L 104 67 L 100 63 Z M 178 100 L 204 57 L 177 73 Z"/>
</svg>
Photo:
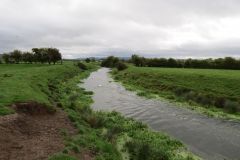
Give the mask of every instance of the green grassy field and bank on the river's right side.
<svg viewBox="0 0 240 160">
<path fill-rule="evenodd" d="M 163 97 L 210 116 L 240 120 L 240 72 L 130 66 L 115 80 L 148 98 Z"/>
</svg>

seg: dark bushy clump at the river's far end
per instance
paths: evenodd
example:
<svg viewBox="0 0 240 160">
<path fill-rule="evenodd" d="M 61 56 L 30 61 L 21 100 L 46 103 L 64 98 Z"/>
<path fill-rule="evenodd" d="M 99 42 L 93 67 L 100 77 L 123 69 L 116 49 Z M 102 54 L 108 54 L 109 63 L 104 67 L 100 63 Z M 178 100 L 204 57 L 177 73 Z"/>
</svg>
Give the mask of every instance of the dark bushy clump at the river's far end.
<svg viewBox="0 0 240 160">
<path fill-rule="evenodd" d="M 104 59 L 101 63 L 101 66 L 108 67 L 108 68 L 117 68 L 119 71 L 122 71 L 128 68 L 123 61 L 121 61 L 119 58 L 114 56 L 109 56 L 106 59 Z"/>
</svg>

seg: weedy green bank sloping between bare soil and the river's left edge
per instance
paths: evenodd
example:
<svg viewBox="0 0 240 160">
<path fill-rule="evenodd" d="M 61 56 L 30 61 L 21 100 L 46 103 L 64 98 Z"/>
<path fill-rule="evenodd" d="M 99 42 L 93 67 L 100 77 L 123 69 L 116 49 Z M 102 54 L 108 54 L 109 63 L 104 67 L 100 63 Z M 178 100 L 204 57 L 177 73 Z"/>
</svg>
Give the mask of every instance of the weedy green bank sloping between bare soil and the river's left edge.
<svg viewBox="0 0 240 160">
<path fill-rule="evenodd" d="M 79 87 L 79 82 L 90 74 L 82 72 L 58 85 L 62 109 L 77 128 L 75 136 L 63 131 L 65 149 L 50 160 L 190 160 L 197 159 L 184 145 L 133 119 L 117 112 L 95 112 L 90 108 L 92 92 Z"/>
</svg>

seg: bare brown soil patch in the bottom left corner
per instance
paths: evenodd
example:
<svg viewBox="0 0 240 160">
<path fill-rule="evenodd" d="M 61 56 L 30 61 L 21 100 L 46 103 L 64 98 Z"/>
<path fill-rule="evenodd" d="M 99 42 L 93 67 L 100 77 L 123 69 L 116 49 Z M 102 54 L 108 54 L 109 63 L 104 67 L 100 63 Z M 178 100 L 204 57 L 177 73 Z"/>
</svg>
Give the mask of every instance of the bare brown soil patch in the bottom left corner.
<svg viewBox="0 0 240 160">
<path fill-rule="evenodd" d="M 50 114 L 29 104 L 15 107 L 16 114 L 0 117 L 0 160 L 48 159 L 64 148 L 62 129 L 75 133 L 63 111 Z"/>
</svg>

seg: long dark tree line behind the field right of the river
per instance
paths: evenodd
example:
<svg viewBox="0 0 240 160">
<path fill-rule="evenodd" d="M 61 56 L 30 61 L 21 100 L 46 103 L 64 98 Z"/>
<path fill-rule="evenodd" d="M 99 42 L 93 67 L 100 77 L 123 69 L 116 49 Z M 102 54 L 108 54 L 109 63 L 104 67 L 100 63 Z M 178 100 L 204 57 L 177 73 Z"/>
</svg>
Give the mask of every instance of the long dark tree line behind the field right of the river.
<svg viewBox="0 0 240 160">
<path fill-rule="evenodd" d="M 240 70 L 240 60 L 232 57 L 217 59 L 174 59 L 145 58 L 132 55 L 129 60 L 138 67 L 169 67 L 169 68 L 202 68 L 202 69 L 235 69 Z"/>
</svg>

